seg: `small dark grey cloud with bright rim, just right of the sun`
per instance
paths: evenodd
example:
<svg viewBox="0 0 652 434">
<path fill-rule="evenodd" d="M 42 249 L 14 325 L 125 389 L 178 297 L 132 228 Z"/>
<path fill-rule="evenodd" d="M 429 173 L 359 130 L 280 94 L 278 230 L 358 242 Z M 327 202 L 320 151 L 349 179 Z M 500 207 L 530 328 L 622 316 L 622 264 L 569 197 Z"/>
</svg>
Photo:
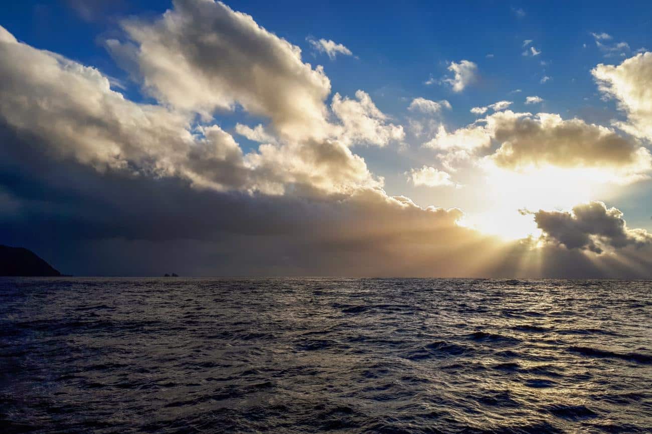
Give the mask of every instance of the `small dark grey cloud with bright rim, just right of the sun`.
<svg viewBox="0 0 652 434">
<path fill-rule="evenodd" d="M 627 228 L 623 213 L 616 208 L 606 208 L 603 202 L 577 205 L 572 212 L 540 210 L 534 216 L 544 237 L 567 249 L 587 249 L 600 254 L 608 248 L 652 244 L 652 234 Z"/>
</svg>

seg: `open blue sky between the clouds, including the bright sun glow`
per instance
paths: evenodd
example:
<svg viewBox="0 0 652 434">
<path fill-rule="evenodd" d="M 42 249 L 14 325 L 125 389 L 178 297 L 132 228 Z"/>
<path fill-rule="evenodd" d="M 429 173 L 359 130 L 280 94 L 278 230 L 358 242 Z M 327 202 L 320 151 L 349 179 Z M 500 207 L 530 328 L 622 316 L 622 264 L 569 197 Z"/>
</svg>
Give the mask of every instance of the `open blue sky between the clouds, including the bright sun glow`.
<svg viewBox="0 0 652 434">
<path fill-rule="evenodd" d="M 649 149 L 644 133 L 630 136 L 627 126 L 617 127 L 615 122 L 627 124 L 634 120 L 623 107 L 619 109 L 619 103 L 625 104 L 623 100 L 606 98 L 606 91 L 600 90 L 592 72 L 599 64 L 617 66 L 652 49 L 649 2 L 632 1 L 623 7 L 607 1 L 379 1 L 374 5 L 350 1 L 319 5 L 299 1 L 233 1 L 228 7 L 250 14 L 267 31 L 300 47 L 301 61 L 310 63 L 311 68 L 323 66 L 323 74 L 331 84 L 330 94 L 323 101 L 329 109 L 334 95 L 340 94 L 345 101 L 355 100 L 356 92 L 362 90 L 382 113 L 379 116 L 384 116 L 383 128 L 403 128 L 401 139 L 378 146 L 355 142 L 350 137 L 342 139 L 352 140 L 353 144 L 348 146 L 353 153 L 364 158 L 369 172 L 383 178 L 387 195 L 409 197 L 421 207 L 460 208 L 469 217 L 471 223 L 467 224 L 471 227 L 476 227 L 477 221 L 497 221 L 508 214 L 516 226 L 518 219 L 529 219 L 529 226 L 512 234 L 526 236 L 527 228 L 535 226 L 529 214 L 520 215 L 518 210 L 537 211 L 532 207 L 539 206 L 536 200 L 519 202 L 520 195 L 527 198 L 530 189 L 532 198 L 546 196 L 541 201 L 542 208 L 570 210 L 575 199 L 602 200 L 623 211 L 630 228 L 652 230 L 652 210 L 647 206 L 652 200 L 652 186 L 645 179 L 647 172 L 634 182 L 619 181 L 613 185 L 604 181 L 584 182 L 581 170 L 567 182 L 546 179 L 545 176 L 557 172 L 512 180 L 510 174 L 492 177 L 478 169 L 489 157 L 496 157 L 491 154 L 499 147 L 496 137 L 492 137 L 492 148 L 482 152 L 474 148 L 472 157 L 467 155 L 466 162 L 458 161 L 454 167 L 447 165 L 447 157 L 464 146 L 444 152 L 441 144 L 432 144 L 437 131 L 441 131 L 437 128 L 448 133 L 464 132 L 479 125 L 478 120 L 487 122 L 482 121 L 484 116 L 492 122 L 491 116 L 499 113 L 514 112 L 518 118 L 518 113 L 530 112 L 558 115 L 563 122 L 577 118 L 584 122 L 583 126 L 609 128 L 629 144 Z M 97 68 L 110 77 L 113 90 L 132 102 L 163 105 L 156 94 L 145 89 L 143 83 L 148 77 L 122 68 L 124 64 L 108 49 L 107 41 L 125 44 L 130 37 L 122 27 L 124 20 L 138 19 L 149 25 L 170 8 L 170 1 L 21 1 L 3 6 L 0 25 L 29 46 Z M 318 51 L 313 43 L 322 38 L 346 46 L 351 55 L 329 56 Z M 472 62 L 475 69 L 471 82 L 456 91 L 451 68 L 462 61 Z M 526 104 L 526 98 L 534 96 L 539 101 Z M 419 112 L 409 109 L 415 99 L 445 105 L 430 113 Z M 511 102 L 506 112 L 503 107 L 495 113 L 493 109 L 485 109 L 482 115 L 471 113 L 473 107 L 488 107 L 501 101 Z M 261 124 L 268 132 L 278 125 L 269 116 L 254 112 L 242 106 L 233 111 L 216 109 L 210 112 L 211 118 L 196 117 L 194 128 L 215 124 L 233 135 L 244 153 L 255 154 L 259 141 L 237 133 L 236 125 L 254 128 Z M 331 120 L 334 115 L 334 110 L 329 113 Z M 585 169 L 591 158 L 582 160 L 578 169 Z M 563 161 L 554 164 L 565 167 Z M 595 164 L 595 169 L 604 169 L 604 161 Z M 430 175 L 448 178 L 441 178 L 436 185 L 419 185 L 413 174 L 421 167 L 429 168 Z M 518 187 L 521 182 L 520 191 L 510 190 L 514 183 Z M 514 200 L 500 197 L 510 194 Z M 492 207 L 501 208 L 501 213 L 492 213 Z M 492 232 L 492 228 L 479 228 Z"/>
</svg>

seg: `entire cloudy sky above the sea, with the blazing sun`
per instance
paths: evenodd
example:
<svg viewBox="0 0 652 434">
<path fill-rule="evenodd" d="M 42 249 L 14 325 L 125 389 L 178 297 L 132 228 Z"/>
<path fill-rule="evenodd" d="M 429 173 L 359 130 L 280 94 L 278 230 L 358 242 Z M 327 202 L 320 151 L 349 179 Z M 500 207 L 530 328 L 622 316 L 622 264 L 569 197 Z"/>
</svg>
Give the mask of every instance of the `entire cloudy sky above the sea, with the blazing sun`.
<svg viewBox="0 0 652 434">
<path fill-rule="evenodd" d="M 0 243 L 74 275 L 652 277 L 652 9 L 22 1 Z"/>
</svg>

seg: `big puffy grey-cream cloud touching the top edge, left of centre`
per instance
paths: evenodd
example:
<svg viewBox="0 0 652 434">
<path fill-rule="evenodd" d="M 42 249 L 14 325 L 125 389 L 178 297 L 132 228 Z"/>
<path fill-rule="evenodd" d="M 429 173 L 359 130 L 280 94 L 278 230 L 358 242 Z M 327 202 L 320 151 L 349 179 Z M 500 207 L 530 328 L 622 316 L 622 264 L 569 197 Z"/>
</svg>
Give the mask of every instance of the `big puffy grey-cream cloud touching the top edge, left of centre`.
<svg viewBox="0 0 652 434">
<path fill-rule="evenodd" d="M 143 88 L 161 103 L 207 118 L 238 104 L 270 118 L 282 135 L 327 135 L 331 83 L 323 69 L 251 16 L 224 3 L 177 0 L 161 18 L 122 25 L 128 42 L 114 41 L 110 50 L 130 51 Z"/>
</svg>

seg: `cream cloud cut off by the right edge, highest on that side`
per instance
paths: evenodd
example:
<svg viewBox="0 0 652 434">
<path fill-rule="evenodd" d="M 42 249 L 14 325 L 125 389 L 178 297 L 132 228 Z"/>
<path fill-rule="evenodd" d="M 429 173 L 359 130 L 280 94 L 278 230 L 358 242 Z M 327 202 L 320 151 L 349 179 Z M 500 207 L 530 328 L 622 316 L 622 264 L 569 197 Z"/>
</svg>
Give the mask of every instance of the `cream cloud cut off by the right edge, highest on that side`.
<svg viewBox="0 0 652 434">
<path fill-rule="evenodd" d="M 599 64 L 591 74 L 600 92 L 617 100 L 627 114 L 627 122 L 615 125 L 652 141 L 652 53 L 638 54 L 617 66 Z"/>
</svg>

